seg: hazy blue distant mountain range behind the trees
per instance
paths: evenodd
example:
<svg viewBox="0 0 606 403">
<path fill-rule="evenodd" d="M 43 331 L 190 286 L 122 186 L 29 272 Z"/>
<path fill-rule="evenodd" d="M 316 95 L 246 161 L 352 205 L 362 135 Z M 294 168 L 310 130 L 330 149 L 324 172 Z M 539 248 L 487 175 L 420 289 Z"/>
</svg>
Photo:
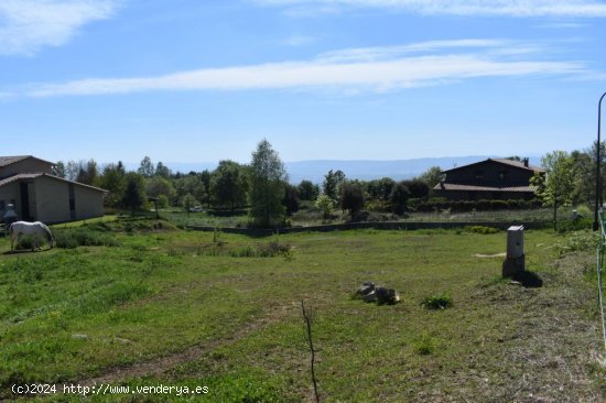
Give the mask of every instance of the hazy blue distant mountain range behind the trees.
<svg viewBox="0 0 606 403">
<path fill-rule="evenodd" d="M 350 179 L 377 179 L 381 177 L 391 177 L 396 181 L 409 179 L 422 174 L 432 166 L 440 166 L 442 170 L 450 170 L 455 166 L 472 164 L 489 157 L 499 157 L 497 155 L 467 155 L 467 156 L 442 156 L 412 160 L 310 160 L 284 163 L 289 173 L 289 181 L 297 184 L 303 179 L 313 183 L 322 183 L 324 175 L 329 171 L 340 170 L 345 176 Z M 502 157 L 502 156 L 500 156 Z M 173 172 L 187 173 L 191 171 L 201 172 L 204 170 L 213 171 L 217 163 L 165 163 Z M 540 165 L 541 159 L 530 156 L 531 165 Z M 136 170 L 139 164 L 126 164 L 127 168 Z"/>
</svg>

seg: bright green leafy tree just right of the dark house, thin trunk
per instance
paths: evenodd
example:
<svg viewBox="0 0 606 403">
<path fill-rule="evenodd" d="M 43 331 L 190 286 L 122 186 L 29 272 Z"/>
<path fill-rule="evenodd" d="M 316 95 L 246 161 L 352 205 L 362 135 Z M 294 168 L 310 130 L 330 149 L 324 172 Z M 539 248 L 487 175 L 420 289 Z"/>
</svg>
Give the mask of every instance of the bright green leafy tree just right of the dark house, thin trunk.
<svg viewBox="0 0 606 403">
<path fill-rule="evenodd" d="M 553 207 L 553 228 L 558 230 L 558 207 L 570 205 L 574 192 L 573 159 L 565 151 L 553 151 L 541 159 L 545 174 L 535 173 L 531 183 L 544 206 Z"/>
</svg>

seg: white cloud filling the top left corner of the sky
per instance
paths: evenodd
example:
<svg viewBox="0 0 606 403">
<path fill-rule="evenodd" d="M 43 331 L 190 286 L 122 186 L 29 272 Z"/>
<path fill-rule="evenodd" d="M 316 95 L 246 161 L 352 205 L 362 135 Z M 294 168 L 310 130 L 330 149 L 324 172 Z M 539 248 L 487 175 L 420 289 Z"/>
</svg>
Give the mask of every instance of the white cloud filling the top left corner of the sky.
<svg viewBox="0 0 606 403">
<path fill-rule="evenodd" d="M 68 42 L 83 25 L 109 18 L 118 0 L 2 0 L 0 55 L 31 55 Z"/>
</svg>

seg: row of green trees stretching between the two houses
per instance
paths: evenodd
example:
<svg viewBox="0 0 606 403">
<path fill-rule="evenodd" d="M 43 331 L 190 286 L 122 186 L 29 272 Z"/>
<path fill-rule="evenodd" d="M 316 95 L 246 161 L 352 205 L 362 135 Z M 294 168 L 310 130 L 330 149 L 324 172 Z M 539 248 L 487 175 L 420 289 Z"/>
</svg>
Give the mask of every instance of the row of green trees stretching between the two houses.
<svg viewBox="0 0 606 403">
<path fill-rule="evenodd" d="M 264 227 L 283 224 L 302 202 L 312 202 L 326 218 L 338 208 L 355 216 L 365 206 L 401 214 L 410 197 L 429 196 L 440 172 L 435 166 L 419 178 L 397 183 L 389 177 L 351 181 L 342 171 L 329 171 L 322 184 L 302 181 L 292 185 L 267 140 L 259 142 L 249 164 L 223 160 L 214 171 L 172 172 L 149 156 L 133 171 L 120 161 L 102 167 L 95 160 L 59 161 L 54 166 L 56 176 L 108 190 L 106 207 L 136 211 L 147 208 L 152 198 L 160 208 L 182 207 L 187 211 L 195 207 L 230 213 L 246 208 L 252 224 Z"/>
</svg>

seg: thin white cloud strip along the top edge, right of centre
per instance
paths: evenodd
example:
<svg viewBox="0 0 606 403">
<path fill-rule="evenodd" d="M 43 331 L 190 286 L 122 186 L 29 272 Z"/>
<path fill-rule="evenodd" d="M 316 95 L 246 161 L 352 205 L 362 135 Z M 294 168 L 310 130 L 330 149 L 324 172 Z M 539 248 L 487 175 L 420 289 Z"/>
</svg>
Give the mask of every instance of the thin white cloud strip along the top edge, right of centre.
<svg viewBox="0 0 606 403">
<path fill-rule="evenodd" d="M 509 17 L 606 17 L 599 0 L 253 0 L 267 6 L 369 7 L 400 9 L 422 14 Z"/>
</svg>

